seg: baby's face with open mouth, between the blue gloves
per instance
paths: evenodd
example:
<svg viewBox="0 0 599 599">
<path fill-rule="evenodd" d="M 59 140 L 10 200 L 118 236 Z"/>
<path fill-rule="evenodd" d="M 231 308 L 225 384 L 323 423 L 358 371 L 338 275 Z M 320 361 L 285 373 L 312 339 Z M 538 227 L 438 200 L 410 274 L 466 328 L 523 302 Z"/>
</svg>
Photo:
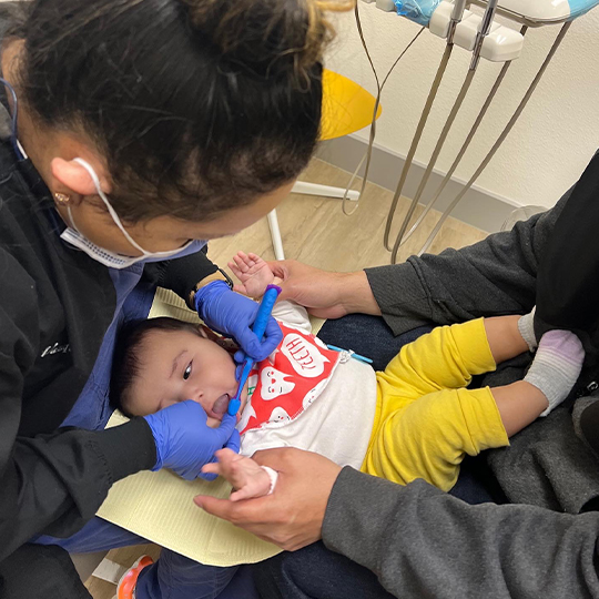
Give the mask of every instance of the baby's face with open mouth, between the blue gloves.
<svg viewBox="0 0 599 599">
<path fill-rule="evenodd" d="M 191 331 L 152 331 L 139 352 L 141 368 L 128 405 L 131 414 L 145 416 L 193 399 L 206 410 L 209 426 L 220 424 L 237 392 L 235 363 L 227 352 Z M 238 414 L 247 399 L 247 386 L 241 399 Z"/>
</svg>

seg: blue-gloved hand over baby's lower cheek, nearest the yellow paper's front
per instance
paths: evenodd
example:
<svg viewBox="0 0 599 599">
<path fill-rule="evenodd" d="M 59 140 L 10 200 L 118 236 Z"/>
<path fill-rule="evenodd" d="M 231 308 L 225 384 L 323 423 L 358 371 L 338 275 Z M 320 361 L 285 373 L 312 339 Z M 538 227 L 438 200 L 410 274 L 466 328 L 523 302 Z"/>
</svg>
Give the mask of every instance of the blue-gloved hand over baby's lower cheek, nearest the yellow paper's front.
<svg viewBox="0 0 599 599">
<path fill-rule="evenodd" d="M 214 460 L 214 451 L 229 447 L 240 450 L 236 417 L 224 414 L 219 428 L 206 425 L 206 413 L 196 402 L 187 399 L 144 416 L 156 444 L 156 464 L 152 471 L 170 468 L 179 476 L 193 480 L 203 475 L 202 466 Z"/>
</svg>

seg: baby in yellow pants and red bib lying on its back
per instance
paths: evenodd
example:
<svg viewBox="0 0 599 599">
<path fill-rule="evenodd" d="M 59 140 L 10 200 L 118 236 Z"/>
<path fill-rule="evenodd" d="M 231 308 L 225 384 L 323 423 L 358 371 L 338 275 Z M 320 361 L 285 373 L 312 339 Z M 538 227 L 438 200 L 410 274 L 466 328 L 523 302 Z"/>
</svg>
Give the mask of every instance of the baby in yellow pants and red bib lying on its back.
<svg viewBox="0 0 599 599">
<path fill-rule="evenodd" d="M 230 263 L 235 291 L 260 297 L 274 281 L 268 265 L 240 252 Z M 276 473 L 251 459 L 293 446 L 398 484 L 424 478 L 450 489 L 466 454 L 509 445 L 508 437 L 547 415 L 569 394 L 585 357 L 578 337 L 550 331 L 537 342 L 532 314 L 479 318 L 435 328 L 402 348 L 384 372 L 333 352 L 311 334 L 306 311 L 277 302 L 283 329 L 275 352 L 242 390 L 241 454 L 217 451 L 206 473 L 225 475 L 232 500 L 272 493 Z M 129 416 L 176 402 L 199 402 L 217 426 L 237 390 L 226 342 L 203 326 L 145 321 L 120 344 L 113 398 Z M 524 352 L 537 352 L 524 380 L 467 389 L 471 377 Z"/>
</svg>

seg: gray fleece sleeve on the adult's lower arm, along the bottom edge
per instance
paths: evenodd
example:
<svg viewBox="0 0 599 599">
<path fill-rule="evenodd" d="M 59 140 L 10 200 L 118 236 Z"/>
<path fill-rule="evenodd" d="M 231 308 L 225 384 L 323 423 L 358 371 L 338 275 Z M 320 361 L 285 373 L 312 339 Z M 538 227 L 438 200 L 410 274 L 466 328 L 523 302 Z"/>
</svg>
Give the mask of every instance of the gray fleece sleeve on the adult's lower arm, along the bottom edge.
<svg viewBox="0 0 599 599">
<path fill-rule="evenodd" d="M 416 480 L 349 467 L 328 501 L 323 540 L 402 599 L 599 597 L 599 514 L 470 506 Z"/>
</svg>

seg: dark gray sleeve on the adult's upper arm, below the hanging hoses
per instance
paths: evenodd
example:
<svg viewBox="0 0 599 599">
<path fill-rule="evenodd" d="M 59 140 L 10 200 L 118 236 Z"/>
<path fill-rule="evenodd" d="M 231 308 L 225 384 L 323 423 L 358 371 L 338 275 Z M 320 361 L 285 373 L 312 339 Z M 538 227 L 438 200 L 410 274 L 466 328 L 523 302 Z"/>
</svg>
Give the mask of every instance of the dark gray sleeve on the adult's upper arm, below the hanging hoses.
<svg viewBox="0 0 599 599">
<path fill-rule="evenodd" d="M 386 323 L 399 335 L 424 324 L 529 312 L 539 260 L 570 192 L 552 210 L 468 247 L 367 268 Z"/>
</svg>

